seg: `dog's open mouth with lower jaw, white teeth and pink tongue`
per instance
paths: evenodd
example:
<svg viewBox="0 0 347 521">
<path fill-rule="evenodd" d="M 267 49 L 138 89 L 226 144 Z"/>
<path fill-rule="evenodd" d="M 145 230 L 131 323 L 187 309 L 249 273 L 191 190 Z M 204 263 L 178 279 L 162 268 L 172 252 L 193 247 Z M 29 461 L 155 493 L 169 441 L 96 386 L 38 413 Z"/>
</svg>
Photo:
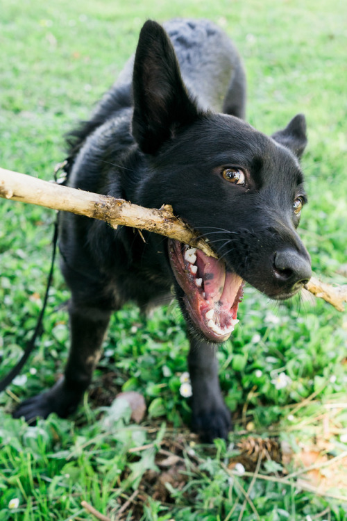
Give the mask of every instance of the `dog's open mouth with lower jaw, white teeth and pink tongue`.
<svg viewBox="0 0 347 521">
<path fill-rule="evenodd" d="M 194 325 L 212 342 L 227 340 L 239 322 L 242 278 L 227 270 L 222 259 L 208 257 L 178 240 L 169 240 L 169 259 Z"/>
</svg>

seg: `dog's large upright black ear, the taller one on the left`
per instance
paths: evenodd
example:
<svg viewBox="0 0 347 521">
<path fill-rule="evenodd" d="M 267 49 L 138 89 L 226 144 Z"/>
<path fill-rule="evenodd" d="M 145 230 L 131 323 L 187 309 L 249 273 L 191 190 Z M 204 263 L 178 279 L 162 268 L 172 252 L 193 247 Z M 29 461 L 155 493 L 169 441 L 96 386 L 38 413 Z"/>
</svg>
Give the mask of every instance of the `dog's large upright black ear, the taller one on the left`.
<svg viewBox="0 0 347 521">
<path fill-rule="evenodd" d="M 149 20 L 142 27 L 133 74 L 132 132 L 146 154 L 155 154 L 177 127 L 198 117 L 167 33 Z"/>
</svg>

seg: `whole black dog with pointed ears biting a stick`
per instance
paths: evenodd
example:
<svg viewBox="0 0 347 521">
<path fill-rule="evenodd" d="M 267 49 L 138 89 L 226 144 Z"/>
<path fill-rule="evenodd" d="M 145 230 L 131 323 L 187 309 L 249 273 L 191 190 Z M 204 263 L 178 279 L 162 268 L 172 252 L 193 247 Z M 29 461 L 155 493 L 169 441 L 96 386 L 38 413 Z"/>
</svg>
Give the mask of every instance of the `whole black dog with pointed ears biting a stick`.
<svg viewBox="0 0 347 521">
<path fill-rule="evenodd" d="M 206 21 L 165 28 L 144 24 L 135 62 L 74 133 L 69 183 L 149 208 L 171 204 L 223 261 L 154 233 L 144 233 L 144 243 L 133 229 L 62 214 L 69 360 L 64 379 L 23 402 L 16 417 L 74 411 L 112 311 L 126 301 L 162 301 L 174 284 L 191 345 L 192 426 L 204 440 L 225 438 L 230 414 L 212 344 L 234 329 L 243 281 L 287 299 L 310 279 L 296 233 L 306 199 L 298 163 L 305 118 L 297 115 L 272 138 L 255 131 L 242 121 L 244 69 L 226 35 Z"/>
</svg>

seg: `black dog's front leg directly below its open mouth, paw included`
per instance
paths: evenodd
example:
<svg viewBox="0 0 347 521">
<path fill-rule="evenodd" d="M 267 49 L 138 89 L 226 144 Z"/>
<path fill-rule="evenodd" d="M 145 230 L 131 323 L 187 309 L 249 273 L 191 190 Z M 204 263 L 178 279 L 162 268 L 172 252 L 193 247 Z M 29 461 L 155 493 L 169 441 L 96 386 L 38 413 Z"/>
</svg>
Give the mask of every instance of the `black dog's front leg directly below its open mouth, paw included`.
<svg viewBox="0 0 347 521">
<path fill-rule="evenodd" d="M 227 438 L 230 412 L 221 396 L 215 347 L 190 338 L 188 365 L 192 382 L 192 429 L 204 442 Z"/>
</svg>

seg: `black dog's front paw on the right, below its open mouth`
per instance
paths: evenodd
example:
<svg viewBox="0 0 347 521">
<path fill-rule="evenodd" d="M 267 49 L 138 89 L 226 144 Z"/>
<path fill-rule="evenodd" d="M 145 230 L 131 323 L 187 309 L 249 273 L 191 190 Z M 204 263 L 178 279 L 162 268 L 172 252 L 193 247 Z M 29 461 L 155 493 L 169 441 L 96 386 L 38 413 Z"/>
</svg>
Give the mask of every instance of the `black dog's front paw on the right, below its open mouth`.
<svg viewBox="0 0 347 521">
<path fill-rule="evenodd" d="M 228 438 L 231 429 L 230 411 L 224 404 L 211 409 L 201 409 L 192 414 L 192 430 L 203 443 L 212 443 L 215 438 Z"/>
</svg>

